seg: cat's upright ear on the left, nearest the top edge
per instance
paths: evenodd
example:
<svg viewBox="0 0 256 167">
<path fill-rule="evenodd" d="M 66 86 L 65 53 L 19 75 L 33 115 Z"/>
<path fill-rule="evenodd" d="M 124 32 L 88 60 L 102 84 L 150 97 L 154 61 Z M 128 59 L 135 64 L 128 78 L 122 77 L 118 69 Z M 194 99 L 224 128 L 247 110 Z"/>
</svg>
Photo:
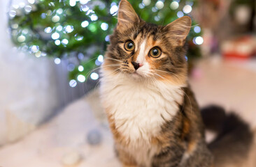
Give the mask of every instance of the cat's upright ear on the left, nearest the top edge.
<svg viewBox="0 0 256 167">
<path fill-rule="evenodd" d="M 117 29 L 125 29 L 129 26 L 138 24 L 139 17 L 127 0 L 121 0 L 118 9 L 118 26 Z"/>
</svg>

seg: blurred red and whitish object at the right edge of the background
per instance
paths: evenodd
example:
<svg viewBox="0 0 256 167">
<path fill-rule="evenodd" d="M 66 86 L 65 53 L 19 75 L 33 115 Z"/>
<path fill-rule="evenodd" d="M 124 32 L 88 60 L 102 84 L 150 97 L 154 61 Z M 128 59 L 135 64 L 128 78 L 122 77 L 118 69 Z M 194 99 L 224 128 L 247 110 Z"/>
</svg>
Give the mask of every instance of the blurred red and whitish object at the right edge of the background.
<svg viewBox="0 0 256 167">
<path fill-rule="evenodd" d="M 256 38 L 243 36 L 236 40 L 229 40 L 222 44 L 222 55 L 225 58 L 248 59 L 256 53 Z"/>
</svg>

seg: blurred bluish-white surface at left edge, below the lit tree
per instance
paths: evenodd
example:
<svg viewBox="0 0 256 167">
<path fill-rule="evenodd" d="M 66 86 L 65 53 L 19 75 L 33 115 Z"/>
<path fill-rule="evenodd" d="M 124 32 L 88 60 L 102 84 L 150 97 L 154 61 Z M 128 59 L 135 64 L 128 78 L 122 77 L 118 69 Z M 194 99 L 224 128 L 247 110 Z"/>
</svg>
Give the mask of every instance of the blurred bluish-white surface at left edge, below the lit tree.
<svg viewBox="0 0 256 167">
<path fill-rule="evenodd" d="M 8 3 L 0 0 L 0 145 L 27 134 L 59 106 L 54 63 L 13 49 Z"/>
</svg>

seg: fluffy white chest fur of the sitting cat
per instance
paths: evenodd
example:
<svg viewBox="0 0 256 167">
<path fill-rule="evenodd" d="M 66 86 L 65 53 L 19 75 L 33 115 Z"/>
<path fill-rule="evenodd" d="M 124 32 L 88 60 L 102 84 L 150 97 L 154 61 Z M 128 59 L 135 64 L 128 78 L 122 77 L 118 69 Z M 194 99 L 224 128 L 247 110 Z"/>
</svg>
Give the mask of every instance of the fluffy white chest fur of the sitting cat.
<svg viewBox="0 0 256 167">
<path fill-rule="evenodd" d="M 182 90 L 164 82 L 140 82 L 127 76 L 103 76 L 101 100 L 115 127 L 129 141 L 149 141 L 178 111 Z"/>
</svg>

